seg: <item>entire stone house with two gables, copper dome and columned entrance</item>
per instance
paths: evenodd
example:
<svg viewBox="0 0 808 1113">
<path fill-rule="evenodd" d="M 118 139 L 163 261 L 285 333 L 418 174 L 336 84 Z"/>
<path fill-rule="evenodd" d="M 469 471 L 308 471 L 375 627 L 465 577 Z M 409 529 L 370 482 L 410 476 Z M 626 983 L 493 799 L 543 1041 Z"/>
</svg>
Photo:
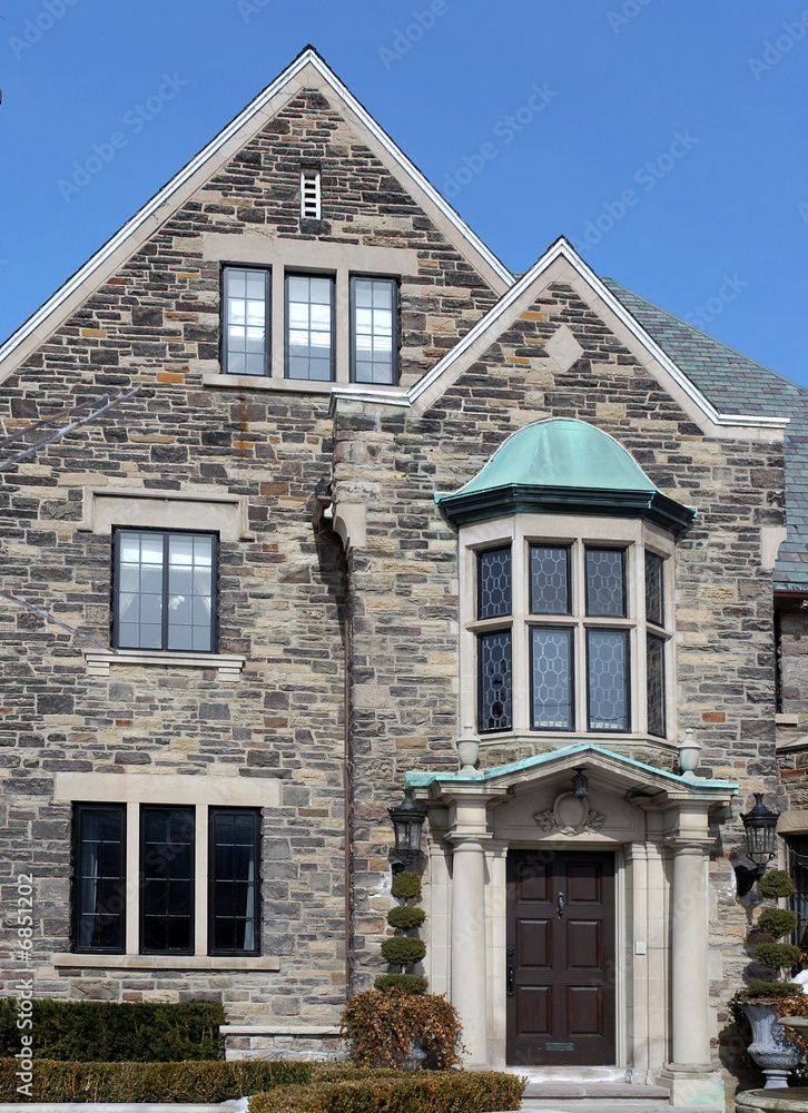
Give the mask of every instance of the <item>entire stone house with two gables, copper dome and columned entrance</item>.
<svg viewBox="0 0 808 1113">
<path fill-rule="evenodd" d="M 752 791 L 808 853 L 808 393 L 564 239 L 512 275 L 311 48 L 0 383 L 9 456 L 126 392 L 0 474 L 3 590 L 93 639 L 0 600 L 37 993 L 336 1054 L 406 784 L 470 1065 L 721 1104 Z"/>
</svg>

